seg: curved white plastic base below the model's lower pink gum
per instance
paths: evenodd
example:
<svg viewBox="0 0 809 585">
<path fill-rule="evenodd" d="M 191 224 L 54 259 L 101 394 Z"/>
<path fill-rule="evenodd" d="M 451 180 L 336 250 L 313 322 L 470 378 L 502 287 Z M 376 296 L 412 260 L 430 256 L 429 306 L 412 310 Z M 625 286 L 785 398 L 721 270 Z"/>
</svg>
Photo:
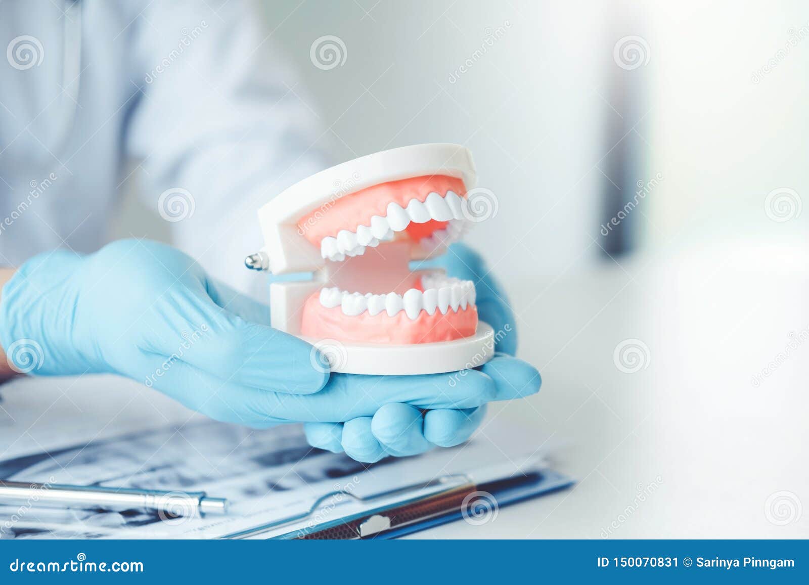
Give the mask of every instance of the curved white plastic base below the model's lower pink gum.
<svg viewBox="0 0 809 585">
<path fill-rule="evenodd" d="M 482 366 L 494 355 L 494 329 L 483 321 L 477 333 L 455 341 L 381 345 L 301 337 L 318 348 L 332 371 L 343 374 L 443 374 Z"/>
</svg>

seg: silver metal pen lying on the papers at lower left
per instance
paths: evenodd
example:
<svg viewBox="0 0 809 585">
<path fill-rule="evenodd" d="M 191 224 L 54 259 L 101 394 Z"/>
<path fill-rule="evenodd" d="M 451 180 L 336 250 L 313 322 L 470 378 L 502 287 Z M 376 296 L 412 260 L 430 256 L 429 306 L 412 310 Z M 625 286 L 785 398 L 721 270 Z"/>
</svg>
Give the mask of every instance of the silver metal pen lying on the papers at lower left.
<svg viewBox="0 0 809 585">
<path fill-rule="evenodd" d="M 99 485 L 57 485 L 2 480 L 0 480 L 0 504 L 104 510 L 150 508 L 172 516 L 227 513 L 227 499 L 209 498 L 205 492 L 180 490 L 167 492 Z"/>
</svg>

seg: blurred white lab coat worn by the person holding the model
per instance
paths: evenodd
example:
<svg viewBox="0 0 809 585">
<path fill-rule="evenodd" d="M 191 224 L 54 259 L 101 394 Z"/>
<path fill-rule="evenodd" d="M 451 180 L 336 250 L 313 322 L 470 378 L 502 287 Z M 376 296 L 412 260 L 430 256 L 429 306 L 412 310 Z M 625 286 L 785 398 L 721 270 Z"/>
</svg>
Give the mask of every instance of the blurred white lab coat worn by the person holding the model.
<svg viewBox="0 0 809 585">
<path fill-rule="evenodd" d="M 246 0 L 0 3 L 0 265 L 103 246 L 138 159 L 174 244 L 263 296 L 256 210 L 326 166 L 275 24 Z"/>
</svg>

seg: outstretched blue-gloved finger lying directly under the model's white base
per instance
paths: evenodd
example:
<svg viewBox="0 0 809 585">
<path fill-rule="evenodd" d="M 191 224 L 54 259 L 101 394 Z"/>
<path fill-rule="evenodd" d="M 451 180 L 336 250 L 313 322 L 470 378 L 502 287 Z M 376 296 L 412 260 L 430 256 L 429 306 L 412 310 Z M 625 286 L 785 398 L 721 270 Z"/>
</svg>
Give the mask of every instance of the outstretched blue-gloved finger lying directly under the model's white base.
<svg viewBox="0 0 809 585">
<path fill-rule="evenodd" d="M 311 395 L 267 392 L 256 408 L 270 416 L 301 422 L 345 422 L 372 417 L 383 405 L 401 402 L 417 409 L 468 409 L 495 400 L 498 388 L 484 372 L 466 370 L 430 375 L 332 374 L 320 392 Z"/>
</svg>

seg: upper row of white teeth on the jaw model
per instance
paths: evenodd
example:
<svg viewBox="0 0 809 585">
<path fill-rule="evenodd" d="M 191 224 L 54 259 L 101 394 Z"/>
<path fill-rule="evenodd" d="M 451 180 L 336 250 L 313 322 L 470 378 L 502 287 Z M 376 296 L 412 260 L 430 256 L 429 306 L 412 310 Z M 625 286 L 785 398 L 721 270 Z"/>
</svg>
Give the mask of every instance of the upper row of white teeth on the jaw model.
<svg viewBox="0 0 809 585">
<path fill-rule="evenodd" d="M 337 237 L 331 235 L 324 237 L 320 241 L 320 256 L 331 261 L 344 261 L 345 256 L 361 256 L 367 247 L 375 248 L 379 246 L 379 242 L 393 240 L 394 232 L 403 231 L 410 222 L 426 223 L 430 219 L 448 222 L 451 219 L 463 219 L 461 201 L 462 197 L 453 191 L 447 191 L 445 197 L 435 192 L 430 193 L 423 203 L 411 199 L 404 208 L 392 201 L 388 203 L 387 215 L 385 217 L 374 215 L 370 226 L 358 226 L 357 231 L 341 230 L 337 232 Z M 441 240 L 455 235 L 457 233 L 450 233 L 447 230 L 447 235 L 442 235 Z"/>
</svg>

